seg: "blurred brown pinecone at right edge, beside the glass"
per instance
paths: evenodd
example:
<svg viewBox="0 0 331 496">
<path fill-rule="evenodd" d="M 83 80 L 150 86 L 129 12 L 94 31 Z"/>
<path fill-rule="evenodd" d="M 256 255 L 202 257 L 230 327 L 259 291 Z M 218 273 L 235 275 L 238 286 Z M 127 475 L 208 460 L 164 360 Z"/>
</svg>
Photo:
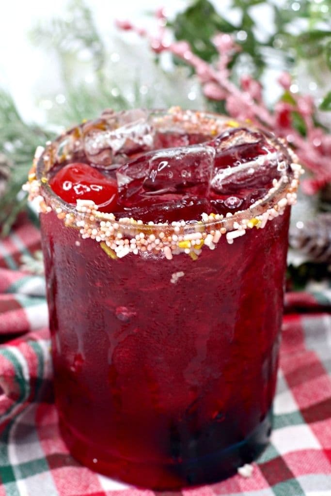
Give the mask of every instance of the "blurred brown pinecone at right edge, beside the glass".
<svg viewBox="0 0 331 496">
<path fill-rule="evenodd" d="M 331 213 L 318 214 L 315 219 L 298 221 L 290 229 L 290 246 L 300 250 L 311 262 L 331 263 Z"/>
</svg>

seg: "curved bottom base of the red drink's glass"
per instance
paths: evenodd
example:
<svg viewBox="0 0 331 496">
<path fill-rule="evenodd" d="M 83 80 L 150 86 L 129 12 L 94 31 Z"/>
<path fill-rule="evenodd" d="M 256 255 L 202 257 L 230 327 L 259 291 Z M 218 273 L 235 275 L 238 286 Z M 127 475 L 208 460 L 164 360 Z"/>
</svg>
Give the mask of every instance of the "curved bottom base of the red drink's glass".
<svg viewBox="0 0 331 496">
<path fill-rule="evenodd" d="M 272 425 L 269 412 L 259 426 L 243 441 L 208 455 L 174 464 L 137 463 L 110 455 L 95 444 L 77 436 L 60 420 L 63 438 L 76 460 L 90 469 L 122 482 L 156 490 L 180 489 L 186 486 L 219 482 L 252 462 L 265 449 Z"/>
</svg>

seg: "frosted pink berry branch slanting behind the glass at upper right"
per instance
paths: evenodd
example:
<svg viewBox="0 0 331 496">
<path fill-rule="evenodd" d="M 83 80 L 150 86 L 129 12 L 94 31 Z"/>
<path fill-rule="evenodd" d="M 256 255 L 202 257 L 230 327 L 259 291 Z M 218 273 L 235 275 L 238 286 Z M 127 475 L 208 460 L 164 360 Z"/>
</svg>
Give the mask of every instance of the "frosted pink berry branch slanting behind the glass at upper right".
<svg viewBox="0 0 331 496">
<path fill-rule="evenodd" d="M 262 85 L 250 75 L 241 77 L 240 87 L 234 84 L 231 70 L 228 68 L 236 52 L 241 50 L 232 36 L 218 33 L 213 43 L 218 52 L 215 64 L 209 64 L 195 55 L 186 41 L 166 40 L 166 17 L 163 9 L 156 11 L 157 32 L 155 35 L 145 29 L 134 26 L 129 21 L 117 21 L 123 30 L 131 30 L 145 37 L 150 48 L 156 54 L 169 52 L 193 67 L 201 83 L 206 98 L 224 101 L 229 116 L 241 121 L 253 123 L 285 138 L 293 147 L 301 163 L 310 171 L 310 177 L 302 183 L 307 194 L 314 194 L 331 182 L 331 134 L 314 124 L 316 111 L 313 99 L 309 95 L 293 93 L 291 76 L 284 72 L 278 79 L 279 84 L 290 95 L 292 103 L 279 101 L 270 111 L 263 100 Z M 294 126 L 293 113 L 303 120 L 306 135 L 302 136 Z"/>
</svg>

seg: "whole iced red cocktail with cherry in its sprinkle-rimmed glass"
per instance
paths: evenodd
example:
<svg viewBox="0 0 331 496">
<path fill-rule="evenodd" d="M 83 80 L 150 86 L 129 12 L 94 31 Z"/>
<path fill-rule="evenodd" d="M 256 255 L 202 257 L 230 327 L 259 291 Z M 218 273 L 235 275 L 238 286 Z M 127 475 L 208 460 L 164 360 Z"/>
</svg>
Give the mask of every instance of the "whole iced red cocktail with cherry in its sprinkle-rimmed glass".
<svg viewBox="0 0 331 496">
<path fill-rule="evenodd" d="M 32 183 L 52 210 L 41 222 L 62 433 L 84 465 L 139 486 L 220 480 L 270 434 L 299 166 L 221 117 L 150 114 L 122 145 L 114 119 L 50 145 Z M 44 178 L 70 203 L 102 205 L 75 209 Z"/>
</svg>

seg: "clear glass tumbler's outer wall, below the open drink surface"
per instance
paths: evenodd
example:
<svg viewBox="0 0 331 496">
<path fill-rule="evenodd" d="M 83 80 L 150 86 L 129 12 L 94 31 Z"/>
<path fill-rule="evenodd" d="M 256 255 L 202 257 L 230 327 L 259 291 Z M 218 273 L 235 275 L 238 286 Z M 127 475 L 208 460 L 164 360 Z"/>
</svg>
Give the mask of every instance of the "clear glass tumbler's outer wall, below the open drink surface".
<svg viewBox="0 0 331 496">
<path fill-rule="evenodd" d="M 226 118 L 218 119 L 226 127 Z M 300 166 L 288 159 L 262 201 L 233 215 L 116 220 L 89 202 L 67 204 L 49 186 L 64 148 L 64 163 L 84 157 L 82 128 L 49 145 L 30 178 L 43 197 L 63 437 L 82 464 L 135 485 L 175 489 L 220 480 L 251 462 L 271 431 Z M 160 135 L 169 132 L 163 124 Z M 118 256 L 115 242 L 105 243 L 107 231 L 150 245 Z"/>
</svg>

